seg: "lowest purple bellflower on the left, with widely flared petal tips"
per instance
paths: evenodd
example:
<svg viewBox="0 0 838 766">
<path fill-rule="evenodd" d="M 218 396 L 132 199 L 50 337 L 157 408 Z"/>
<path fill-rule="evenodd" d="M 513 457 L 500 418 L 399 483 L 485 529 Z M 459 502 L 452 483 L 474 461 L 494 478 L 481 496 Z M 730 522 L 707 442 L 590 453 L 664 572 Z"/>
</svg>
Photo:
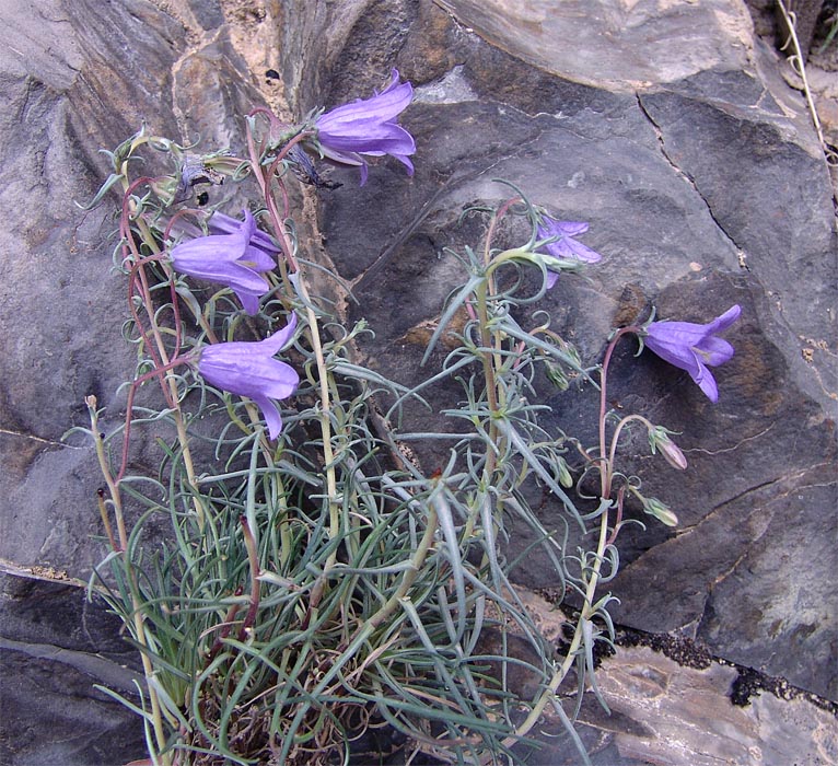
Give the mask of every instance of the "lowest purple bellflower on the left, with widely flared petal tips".
<svg viewBox="0 0 838 766">
<path fill-rule="evenodd" d="M 198 357 L 198 372 L 210 385 L 238 396 L 248 396 L 261 410 L 268 434 L 276 439 L 282 430 L 282 417 L 271 399 L 286 399 L 300 384 L 300 375 L 273 355 L 291 339 L 296 315 L 269 338 L 257 341 L 232 341 L 206 346 Z"/>
</svg>

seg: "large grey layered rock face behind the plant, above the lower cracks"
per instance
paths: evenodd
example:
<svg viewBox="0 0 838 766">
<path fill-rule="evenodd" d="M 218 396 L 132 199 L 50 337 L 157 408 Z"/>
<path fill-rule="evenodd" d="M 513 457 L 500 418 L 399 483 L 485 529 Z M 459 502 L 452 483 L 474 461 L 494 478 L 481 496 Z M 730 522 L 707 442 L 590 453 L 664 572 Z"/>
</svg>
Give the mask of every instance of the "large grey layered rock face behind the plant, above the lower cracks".
<svg viewBox="0 0 838 766">
<path fill-rule="evenodd" d="M 416 88 L 403 120 L 415 176 L 386 161 L 361 188 L 331 170 L 340 188 L 301 193 L 307 257 L 351 285 L 347 313 L 375 333 L 362 352 L 404 384 L 439 364 L 441 352 L 419 361 L 461 275 L 446 248 L 477 244 L 458 218 L 509 196 L 497 178 L 590 222 L 585 243 L 603 262 L 533 309 L 585 364 L 612 327 L 652 305 L 706 322 L 738 303 L 715 405 L 686 373 L 635 359 L 628 344 L 618 352 L 613 403 L 683 432 L 689 469 L 650 479 L 680 525 L 626 531 L 614 616 L 838 700 L 835 200 L 805 104 L 743 3 L 15 0 L 0 16 L 0 558 L 86 578 L 102 556 L 93 449 L 62 439 L 85 426 L 89 394 L 118 422 L 133 369 L 124 285 L 109 276 L 115 206 L 74 205 L 107 175 L 98 149 L 143 121 L 206 150 L 241 149 L 253 106 L 299 118 L 368 95 L 395 67 Z M 594 432 L 590 391 L 538 393 L 557 429 Z M 453 394 L 434 395 L 439 411 Z M 629 467 L 643 474 L 651 460 Z M 543 510 L 550 529 L 560 509 L 546 497 Z M 509 555 L 528 543 L 511 538 Z M 545 571 L 531 556 L 519 579 L 549 591 Z M 15 585 L 14 603 L 26 593 Z M 94 651 L 77 638 L 21 629 L 3 632 L 3 651 L 25 685 L 21 657 Z M 77 666 L 109 683 L 104 665 Z M 108 763 L 95 750 L 32 758 Z"/>
</svg>

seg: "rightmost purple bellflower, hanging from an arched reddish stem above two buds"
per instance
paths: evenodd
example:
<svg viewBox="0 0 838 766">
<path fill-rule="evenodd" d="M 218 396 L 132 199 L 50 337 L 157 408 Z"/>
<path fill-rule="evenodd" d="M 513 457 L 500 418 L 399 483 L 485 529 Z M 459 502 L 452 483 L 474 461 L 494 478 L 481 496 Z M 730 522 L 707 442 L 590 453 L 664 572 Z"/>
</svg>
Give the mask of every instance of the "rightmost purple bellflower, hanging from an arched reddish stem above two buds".
<svg viewBox="0 0 838 766">
<path fill-rule="evenodd" d="M 661 359 L 686 370 L 699 388 L 714 403 L 719 399 L 719 387 L 708 370 L 708 364 L 723 364 L 730 361 L 734 352 L 733 346 L 715 337 L 715 334 L 730 327 L 741 312 L 738 305 L 731 306 L 721 316 L 705 325 L 691 322 L 652 322 L 645 328 L 643 339 Z"/>
</svg>

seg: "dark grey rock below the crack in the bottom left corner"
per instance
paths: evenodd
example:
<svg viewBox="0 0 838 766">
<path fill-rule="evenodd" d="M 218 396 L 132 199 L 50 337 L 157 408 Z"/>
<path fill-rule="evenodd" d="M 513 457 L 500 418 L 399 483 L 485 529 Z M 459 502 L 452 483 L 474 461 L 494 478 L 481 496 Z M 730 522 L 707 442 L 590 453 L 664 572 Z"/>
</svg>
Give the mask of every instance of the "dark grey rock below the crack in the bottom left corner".
<svg viewBox="0 0 838 766">
<path fill-rule="evenodd" d="M 0 564 L 0 763 L 110 766 L 141 757 L 137 716 L 94 688 L 139 701 L 139 658 L 120 622 L 102 601 L 88 602 L 83 583 L 40 571 Z"/>
</svg>

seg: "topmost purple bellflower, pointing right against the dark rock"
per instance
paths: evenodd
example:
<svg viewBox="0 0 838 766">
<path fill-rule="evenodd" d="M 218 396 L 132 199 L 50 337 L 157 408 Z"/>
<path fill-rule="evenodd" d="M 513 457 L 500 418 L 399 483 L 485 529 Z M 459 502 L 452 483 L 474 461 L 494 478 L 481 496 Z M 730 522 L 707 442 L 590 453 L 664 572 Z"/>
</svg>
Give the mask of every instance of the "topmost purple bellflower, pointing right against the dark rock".
<svg viewBox="0 0 838 766">
<path fill-rule="evenodd" d="M 398 81 L 398 70 L 381 93 L 344 104 L 325 112 L 315 120 L 317 140 L 323 154 L 333 162 L 357 165 L 361 169 L 361 186 L 366 183 L 366 162 L 361 154 L 395 156 L 414 174 L 414 164 L 408 159 L 416 153 L 414 137 L 396 118 L 410 104 L 414 86 Z"/>
</svg>

